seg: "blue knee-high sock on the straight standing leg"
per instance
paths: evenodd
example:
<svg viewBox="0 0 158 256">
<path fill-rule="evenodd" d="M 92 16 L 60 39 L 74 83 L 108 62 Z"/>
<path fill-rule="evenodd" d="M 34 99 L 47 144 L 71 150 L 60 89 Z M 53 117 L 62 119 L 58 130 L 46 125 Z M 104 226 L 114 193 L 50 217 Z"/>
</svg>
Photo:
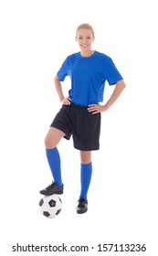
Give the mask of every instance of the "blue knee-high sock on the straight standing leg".
<svg viewBox="0 0 158 256">
<path fill-rule="evenodd" d="M 87 200 L 87 194 L 90 187 L 90 180 L 92 175 L 92 164 L 81 164 L 80 165 L 80 183 L 81 183 L 81 191 L 80 198 L 83 197 Z"/>
</svg>

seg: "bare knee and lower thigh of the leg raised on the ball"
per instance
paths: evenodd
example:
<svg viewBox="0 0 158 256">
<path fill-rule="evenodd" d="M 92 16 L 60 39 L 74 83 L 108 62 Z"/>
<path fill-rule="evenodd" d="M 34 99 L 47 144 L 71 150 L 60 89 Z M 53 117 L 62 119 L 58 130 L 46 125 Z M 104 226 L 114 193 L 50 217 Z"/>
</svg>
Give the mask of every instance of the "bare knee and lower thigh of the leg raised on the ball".
<svg viewBox="0 0 158 256">
<path fill-rule="evenodd" d="M 45 138 L 46 148 L 49 149 L 56 147 L 64 135 L 65 133 L 57 128 L 50 127 Z"/>
</svg>

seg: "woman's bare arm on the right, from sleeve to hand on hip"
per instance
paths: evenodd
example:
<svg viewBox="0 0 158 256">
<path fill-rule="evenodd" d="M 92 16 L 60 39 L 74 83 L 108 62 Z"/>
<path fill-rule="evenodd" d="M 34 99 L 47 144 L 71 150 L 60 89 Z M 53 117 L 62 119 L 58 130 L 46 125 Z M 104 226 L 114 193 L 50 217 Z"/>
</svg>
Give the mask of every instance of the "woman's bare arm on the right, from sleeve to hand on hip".
<svg viewBox="0 0 158 256">
<path fill-rule="evenodd" d="M 125 88 L 124 80 L 117 81 L 115 89 L 111 94 L 111 98 L 106 102 L 106 104 L 105 105 L 91 104 L 88 108 L 88 111 L 93 113 L 107 111 L 111 107 L 111 105 L 119 98 L 124 88 Z"/>
</svg>

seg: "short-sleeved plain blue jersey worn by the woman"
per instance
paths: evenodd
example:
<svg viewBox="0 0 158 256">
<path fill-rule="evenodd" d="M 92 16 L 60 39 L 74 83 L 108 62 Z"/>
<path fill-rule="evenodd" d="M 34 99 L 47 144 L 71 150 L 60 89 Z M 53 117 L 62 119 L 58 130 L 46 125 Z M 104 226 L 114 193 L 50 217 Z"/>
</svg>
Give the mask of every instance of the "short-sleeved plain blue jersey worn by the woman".
<svg viewBox="0 0 158 256">
<path fill-rule="evenodd" d="M 57 73 L 58 80 L 70 77 L 71 89 L 68 95 L 72 102 L 88 106 L 103 101 L 105 81 L 110 85 L 122 80 L 112 59 L 98 51 L 90 57 L 82 57 L 80 52 L 68 56 Z"/>
</svg>

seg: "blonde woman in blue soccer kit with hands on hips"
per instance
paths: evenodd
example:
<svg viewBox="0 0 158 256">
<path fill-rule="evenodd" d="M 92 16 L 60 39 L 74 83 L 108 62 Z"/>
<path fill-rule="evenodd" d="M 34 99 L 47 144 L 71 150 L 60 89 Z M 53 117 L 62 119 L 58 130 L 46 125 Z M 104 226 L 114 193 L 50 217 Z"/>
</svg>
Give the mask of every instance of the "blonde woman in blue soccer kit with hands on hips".
<svg viewBox="0 0 158 256">
<path fill-rule="evenodd" d="M 88 210 L 88 190 L 92 174 L 91 151 L 100 148 L 100 112 L 106 112 L 125 88 L 124 80 L 107 55 L 91 48 L 94 31 L 89 24 L 77 28 L 76 41 L 80 51 L 68 56 L 55 77 L 55 86 L 62 108 L 48 130 L 45 144 L 47 161 L 53 176 L 51 185 L 42 189 L 45 196 L 63 194 L 60 155 L 57 145 L 61 138 L 72 135 L 74 147 L 80 153 L 80 194 L 77 213 Z M 61 82 L 70 77 L 68 97 L 62 91 Z M 115 85 L 109 101 L 103 101 L 105 81 Z"/>
</svg>

